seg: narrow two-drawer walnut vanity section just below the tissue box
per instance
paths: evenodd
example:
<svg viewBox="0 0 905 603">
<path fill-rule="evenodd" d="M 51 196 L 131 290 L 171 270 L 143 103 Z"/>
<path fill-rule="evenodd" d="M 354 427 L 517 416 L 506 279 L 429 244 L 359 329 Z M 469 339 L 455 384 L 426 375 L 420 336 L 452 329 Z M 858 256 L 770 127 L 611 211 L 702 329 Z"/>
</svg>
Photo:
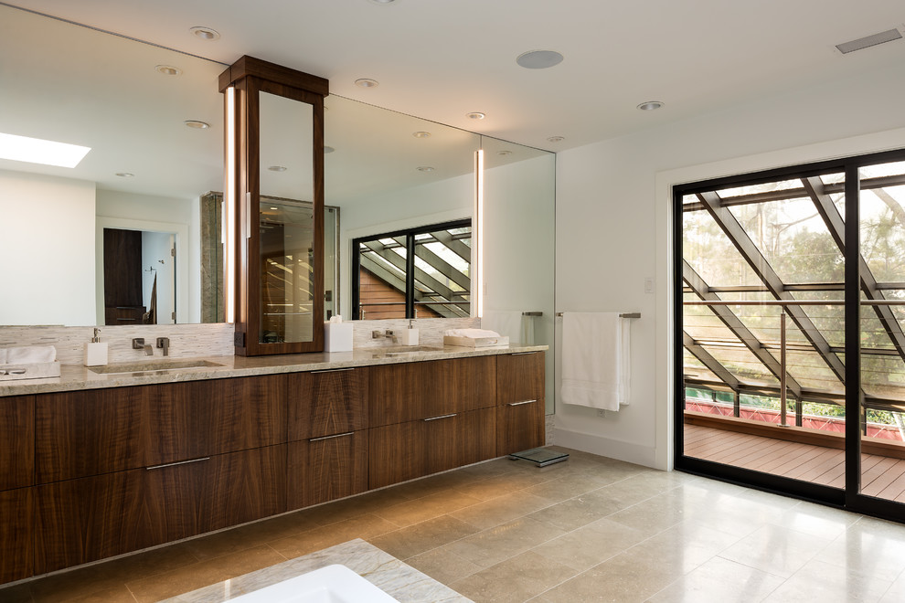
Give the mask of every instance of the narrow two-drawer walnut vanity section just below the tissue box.
<svg viewBox="0 0 905 603">
<path fill-rule="evenodd" d="M 367 367 L 289 379 L 287 509 L 367 490 Z"/>
</svg>

